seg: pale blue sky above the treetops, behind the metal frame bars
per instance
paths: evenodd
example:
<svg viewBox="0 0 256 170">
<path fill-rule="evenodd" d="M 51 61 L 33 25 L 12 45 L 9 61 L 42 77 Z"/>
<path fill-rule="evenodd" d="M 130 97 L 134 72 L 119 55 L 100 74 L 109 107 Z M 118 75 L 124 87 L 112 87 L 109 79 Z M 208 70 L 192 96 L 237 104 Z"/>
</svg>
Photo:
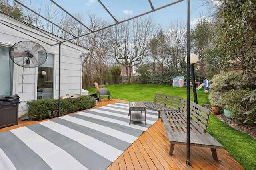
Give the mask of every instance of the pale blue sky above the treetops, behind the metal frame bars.
<svg viewBox="0 0 256 170">
<path fill-rule="evenodd" d="M 154 8 L 159 8 L 175 1 L 176 0 L 151 0 Z M 54 0 L 54 2 L 58 3 L 70 14 L 83 12 L 86 16 L 86 11 L 90 10 L 94 12 L 98 17 L 101 17 L 105 20 L 112 20 L 112 18 L 108 15 L 108 13 L 97 0 Z M 148 0 L 101 0 L 101 2 L 116 18 L 132 17 L 151 10 Z M 200 17 L 200 13 L 206 15 L 208 12 L 206 6 L 201 6 L 203 2 L 203 0 L 191 0 L 191 25 L 193 25 L 194 21 Z M 186 23 L 187 4 L 187 0 L 184 0 L 148 15 L 152 15 L 153 18 L 155 18 L 161 25 L 166 25 L 170 23 L 171 20 L 178 18 L 182 18 L 182 20 Z"/>
</svg>

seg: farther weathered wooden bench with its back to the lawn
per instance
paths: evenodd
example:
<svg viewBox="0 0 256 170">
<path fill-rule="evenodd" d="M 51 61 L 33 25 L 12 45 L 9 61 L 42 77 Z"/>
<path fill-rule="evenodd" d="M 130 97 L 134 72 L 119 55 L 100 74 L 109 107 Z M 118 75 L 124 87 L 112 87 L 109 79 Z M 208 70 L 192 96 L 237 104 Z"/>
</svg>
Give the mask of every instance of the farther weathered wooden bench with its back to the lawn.
<svg viewBox="0 0 256 170">
<path fill-rule="evenodd" d="M 154 102 L 146 101 L 146 102 L 143 102 L 143 104 L 150 109 L 158 111 L 158 119 L 159 119 L 161 111 L 172 111 L 172 110 L 175 111 L 180 109 L 181 100 L 183 100 L 183 98 L 155 93 Z"/>
</svg>

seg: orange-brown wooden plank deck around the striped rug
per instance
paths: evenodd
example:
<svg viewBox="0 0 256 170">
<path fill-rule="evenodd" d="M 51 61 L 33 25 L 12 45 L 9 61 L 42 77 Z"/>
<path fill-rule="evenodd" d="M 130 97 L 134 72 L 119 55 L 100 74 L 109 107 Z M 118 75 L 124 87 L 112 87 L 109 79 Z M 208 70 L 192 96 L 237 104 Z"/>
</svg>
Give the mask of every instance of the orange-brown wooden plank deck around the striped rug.
<svg viewBox="0 0 256 170">
<path fill-rule="evenodd" d="M 111 99 L 111 101 L 108 101 L 103 99 L 96 107 L 117 102 L 128 104 L 126 100 Z M 18 125 L 0 129 L 0 133 L 38 122 L 19 121 Z M 190 159 L 192 166 L 188 166 L 186 165 L 186 146 L 176 145 L 173 156 L 168 155 L 169 147 L 170 143 L 168 142 L 164 124 L 159 119 L 147 131 L 144 131 L 107 170 L 244 170 L 224 149 L 217 149 L 219 161 L 216 162 L 213 160 L 212 152 L 209 148 L 191 146 Z"/>
</svg>

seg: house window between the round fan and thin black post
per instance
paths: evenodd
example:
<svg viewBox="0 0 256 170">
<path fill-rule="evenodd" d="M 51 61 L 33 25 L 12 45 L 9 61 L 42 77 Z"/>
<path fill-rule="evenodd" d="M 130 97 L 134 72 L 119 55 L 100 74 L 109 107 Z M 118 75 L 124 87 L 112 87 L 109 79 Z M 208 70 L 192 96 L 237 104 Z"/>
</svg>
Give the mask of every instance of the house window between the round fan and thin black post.
<svg viewBox="0 0 256 170">
<path fill-rule="evenodd" d="M 47 53 L 44 64 L 38 67 L 37 72 L 37 99 L 53 98 L 54 54 Z"/>
</svg>

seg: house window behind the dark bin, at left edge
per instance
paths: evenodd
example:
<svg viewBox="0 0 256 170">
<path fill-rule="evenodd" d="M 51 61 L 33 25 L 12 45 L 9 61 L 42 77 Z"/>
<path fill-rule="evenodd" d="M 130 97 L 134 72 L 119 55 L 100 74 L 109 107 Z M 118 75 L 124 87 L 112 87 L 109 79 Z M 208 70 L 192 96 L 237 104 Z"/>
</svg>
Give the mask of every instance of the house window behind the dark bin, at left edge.
<svg viewBox="0 0 256 170">
<path fill-rule="evenodd" d="M 9 57 L 10 47 L 0 45 L 0 96 L 12 95 L 13 65 Z"/>
</svg>

